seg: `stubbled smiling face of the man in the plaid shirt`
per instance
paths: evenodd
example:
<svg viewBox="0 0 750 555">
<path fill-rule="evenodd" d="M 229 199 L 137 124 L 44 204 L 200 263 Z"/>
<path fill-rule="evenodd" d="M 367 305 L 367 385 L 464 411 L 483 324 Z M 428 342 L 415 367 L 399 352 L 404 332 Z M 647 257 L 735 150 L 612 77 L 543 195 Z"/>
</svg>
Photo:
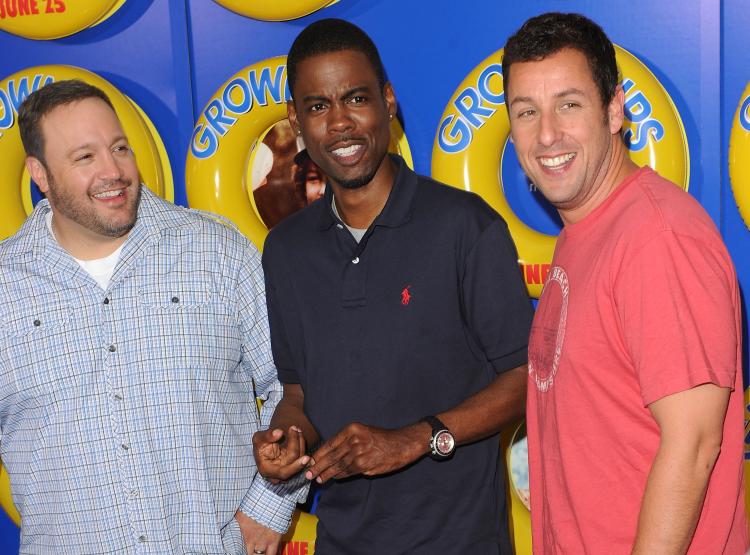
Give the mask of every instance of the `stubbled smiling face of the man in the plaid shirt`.
<svg viewBox="0 0 750 555">
<path fill-rule="evenodd" d="M 36 158 L 28 167 L 52 206 L 58 240 L 121 243 L 135 224 L 140 182 L 116 114 L 85 98 L 54 108 L 40 123 L 46 167 Z"/>
</svg>

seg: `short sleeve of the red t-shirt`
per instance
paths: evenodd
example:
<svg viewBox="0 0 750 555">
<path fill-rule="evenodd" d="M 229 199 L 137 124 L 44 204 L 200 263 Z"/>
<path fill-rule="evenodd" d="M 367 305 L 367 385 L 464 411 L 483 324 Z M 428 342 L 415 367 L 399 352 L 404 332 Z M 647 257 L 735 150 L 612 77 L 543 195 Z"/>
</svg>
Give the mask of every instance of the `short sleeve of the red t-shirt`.
<svg viewBox="0 0 750 555">
<path fill-rule="evenodd" d="M 720 244 L 662 231 L 625 264 L 615 297 L 644 406 L 705 383 L 734 386 L 737 284 Z"/>
</svg>

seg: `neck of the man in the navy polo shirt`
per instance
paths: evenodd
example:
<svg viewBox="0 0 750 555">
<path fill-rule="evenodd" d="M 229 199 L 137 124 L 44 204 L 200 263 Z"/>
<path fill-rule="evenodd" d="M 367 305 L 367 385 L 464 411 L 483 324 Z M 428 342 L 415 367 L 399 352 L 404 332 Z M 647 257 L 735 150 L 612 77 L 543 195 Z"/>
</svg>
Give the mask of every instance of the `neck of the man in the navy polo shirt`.
<svg viewBox="0 0 750 555">
<path fill-rule="evenodd" d="M 375 177 L 367 185 L 346 189 L 332 183 L 336 209 L 344 223 L 355 229 L 369 228 L 388 201 L 395 178 L 393 161 L 386 156 Z"/>
</svg>

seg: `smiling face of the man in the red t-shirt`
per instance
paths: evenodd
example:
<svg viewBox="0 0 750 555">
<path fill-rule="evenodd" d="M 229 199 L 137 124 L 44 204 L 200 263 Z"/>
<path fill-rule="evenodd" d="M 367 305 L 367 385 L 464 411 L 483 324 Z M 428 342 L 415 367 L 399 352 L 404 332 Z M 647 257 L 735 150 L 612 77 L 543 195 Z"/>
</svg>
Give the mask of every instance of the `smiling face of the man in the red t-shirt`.
<svg viewBox="0 0 750 555">
<path fill-rule="evenodd" d="M 563 221 L 578 221 L 631 170 L 619 136 L 622 89 L 602 106 L 586 57 L 571 48 L 514 63 L 510 73 L 511 139 L 521 166 Z"/>
</svg>

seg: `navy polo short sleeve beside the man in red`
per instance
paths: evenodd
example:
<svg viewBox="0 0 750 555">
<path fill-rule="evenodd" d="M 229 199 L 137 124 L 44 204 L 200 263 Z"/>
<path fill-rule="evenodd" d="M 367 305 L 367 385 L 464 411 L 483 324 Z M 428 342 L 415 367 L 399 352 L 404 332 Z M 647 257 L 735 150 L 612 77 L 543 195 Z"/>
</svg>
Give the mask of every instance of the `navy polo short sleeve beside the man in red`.
<svg viewBox="0 0 750 555">
<path fill-rule="evenodd" d="M 469 327 L 495 371 L 525 364 L 533 309 L 503 220 L 487 226 L 469 251 L 462 291 Z"/>
</svg>

